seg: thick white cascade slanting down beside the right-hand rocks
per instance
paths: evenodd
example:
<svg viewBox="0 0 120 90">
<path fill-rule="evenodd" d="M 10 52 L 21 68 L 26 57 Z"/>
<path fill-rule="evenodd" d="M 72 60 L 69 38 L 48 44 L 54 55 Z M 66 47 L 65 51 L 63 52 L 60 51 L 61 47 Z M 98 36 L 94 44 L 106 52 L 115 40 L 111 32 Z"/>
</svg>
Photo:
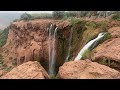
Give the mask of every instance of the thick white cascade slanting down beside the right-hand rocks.
<svg viewBox="0 0 120 90">
<path fill-rule="evenodd" d="M 97 38 L 91 40 L 90 42 L 88 42 L 82 49 L 81 51 L 78 53 L 77 57 L 75 58 L 75 61 L 80 60 L 83 56 L 83 54 L 85 53 L 86 50 L 88 50 L 91 46 L 95 46 L 95 44 L 97 42 L 99 42 L 99 40 L 104 37 L 105 33 L 100 33 Z"/>
</svg>

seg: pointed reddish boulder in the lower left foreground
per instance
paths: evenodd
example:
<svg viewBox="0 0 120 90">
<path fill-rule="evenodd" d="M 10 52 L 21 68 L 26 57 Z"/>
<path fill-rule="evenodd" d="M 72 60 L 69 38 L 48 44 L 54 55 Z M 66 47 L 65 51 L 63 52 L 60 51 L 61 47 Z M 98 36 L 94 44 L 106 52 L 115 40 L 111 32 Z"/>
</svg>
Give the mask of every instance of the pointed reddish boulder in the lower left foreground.
<svg viewBox="0 0 120 90">
<path fill-rule="evenodd" d="M 49 79 L 49 76 L 39 62 L 29 61 L 12 69 L 0 79 Z"/>
</svg>

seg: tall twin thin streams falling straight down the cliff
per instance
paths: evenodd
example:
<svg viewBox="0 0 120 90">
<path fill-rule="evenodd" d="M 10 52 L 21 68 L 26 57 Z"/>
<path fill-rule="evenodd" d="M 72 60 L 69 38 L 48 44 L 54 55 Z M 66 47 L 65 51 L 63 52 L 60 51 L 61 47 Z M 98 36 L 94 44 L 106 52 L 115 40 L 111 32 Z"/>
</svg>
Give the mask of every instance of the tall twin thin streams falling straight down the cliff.
<svg viewBox="0 0 120 90">
<path fill-rule="evenodd" d="M 57 36 L 57 29 L 55 28 L 53 35 L 53 25 L 51 24 L 49 29 L 49 74 L 54 74 L 55 72 L 55 62 L 56 62 L 56 36 Z M 53 36 L 53 37 L 52 37 Z"/>
</svg>

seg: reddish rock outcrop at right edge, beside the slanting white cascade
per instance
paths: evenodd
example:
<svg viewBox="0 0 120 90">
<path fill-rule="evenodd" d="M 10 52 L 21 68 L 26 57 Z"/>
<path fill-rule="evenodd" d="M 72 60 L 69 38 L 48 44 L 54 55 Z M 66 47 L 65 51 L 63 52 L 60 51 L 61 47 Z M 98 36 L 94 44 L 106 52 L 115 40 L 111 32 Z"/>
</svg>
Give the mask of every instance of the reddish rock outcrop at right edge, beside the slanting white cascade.
<svg viewBox="0 0 120 90">
<path fill-rule="evenodd" d="M 108 32 L 112 38 L 93 50 L 91 57 L 93 61 L 120 70 L 120 27 L 110 28 Z"/>
</svg>

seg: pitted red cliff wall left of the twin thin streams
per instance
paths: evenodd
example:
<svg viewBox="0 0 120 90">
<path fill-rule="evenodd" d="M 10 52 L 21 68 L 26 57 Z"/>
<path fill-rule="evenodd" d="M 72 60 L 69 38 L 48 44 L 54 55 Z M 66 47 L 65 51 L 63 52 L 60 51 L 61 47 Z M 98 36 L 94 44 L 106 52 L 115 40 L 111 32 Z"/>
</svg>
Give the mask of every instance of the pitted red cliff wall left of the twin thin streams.
<svg viewBox="0 0 120 90">
<path fill-rule="evenodd" d="M 52 21 L 51 21 L 52 22 Z M 44 23 L 44 24 L 43 24 Z M 48 31 L 50 22 L 17 22 L 10 26 L 3 56 L 6 62 L 20 65 L 29 60 L 48 60 Z M 12 60 L 12 61 L 11 61 Z"/>
</svg>

